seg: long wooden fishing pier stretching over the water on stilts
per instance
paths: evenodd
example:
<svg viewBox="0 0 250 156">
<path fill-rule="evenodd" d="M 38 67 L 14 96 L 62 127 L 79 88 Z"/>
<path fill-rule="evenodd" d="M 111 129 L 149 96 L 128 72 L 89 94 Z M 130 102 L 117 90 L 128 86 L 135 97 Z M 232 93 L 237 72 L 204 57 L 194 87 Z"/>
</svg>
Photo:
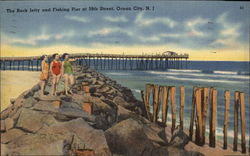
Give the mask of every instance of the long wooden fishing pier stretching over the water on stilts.
<svg viewBox="0 0 250 156">
<path fill-rule="evenodd" d="M 49 55 L 49 58 L 51 56 Z M 165 70 L 187 68 L 188 54 L 124 55 L 124 54 L 70 54 L 78 65 L 97 70 Z M 49 59 L 52 60 L 51 58 Z M 41 56 L 1 57 L 1 70 L 39 71 Z"/>
</svg>

